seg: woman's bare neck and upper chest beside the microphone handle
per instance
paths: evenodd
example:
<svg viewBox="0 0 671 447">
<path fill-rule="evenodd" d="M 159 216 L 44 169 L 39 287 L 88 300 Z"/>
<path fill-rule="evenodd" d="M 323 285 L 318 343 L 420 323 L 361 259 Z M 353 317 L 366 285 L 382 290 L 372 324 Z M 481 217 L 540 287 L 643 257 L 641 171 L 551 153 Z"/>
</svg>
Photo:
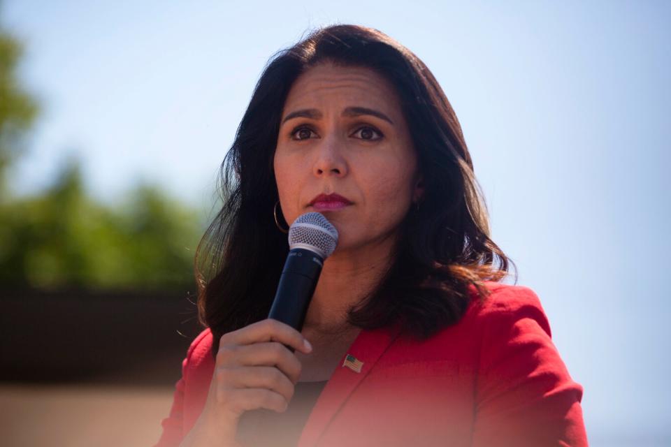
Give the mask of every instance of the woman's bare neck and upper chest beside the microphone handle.
<svg viewBox="0 0 671 447">
<path fill-rule="evenodd" d="M 347 323 L 347 309 L 380 283 L 391 265 L 393 248 L 390 238 L 365 249 L 333 253 L 324 262 L 303 330 L 329 338 L 352 332 L 355 328 Z"/>
</svg>

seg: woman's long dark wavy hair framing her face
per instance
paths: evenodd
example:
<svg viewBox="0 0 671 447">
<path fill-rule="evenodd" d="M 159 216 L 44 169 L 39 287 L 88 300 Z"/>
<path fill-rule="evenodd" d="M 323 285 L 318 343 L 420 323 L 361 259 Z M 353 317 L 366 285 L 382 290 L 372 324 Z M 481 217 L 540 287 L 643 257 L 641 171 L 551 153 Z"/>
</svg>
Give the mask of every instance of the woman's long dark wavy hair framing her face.
<svg viewBox="0 0 671 447">
<path fill-rule="evenodd" d="M 312 31 L 273 55 L 254 88 L 221 168 L 223 205 L 196 250 L 199 320 L 214 336 L 268 317 L 287 257 L 275 226 L 273 156 L 284 101 L 312 66 L 371 68 L 394 85 L 424 178 L 419 210 L 403 221 L 394 260 L 377 288 L 349 309 L 359 328 L 400 323 L 420 338 L 459 321 L 468 286 L 500 281 L 509 260 L 489 223 L 461 126 L 431 71 L 376 29 L 338 24 Z"/>
</svg>

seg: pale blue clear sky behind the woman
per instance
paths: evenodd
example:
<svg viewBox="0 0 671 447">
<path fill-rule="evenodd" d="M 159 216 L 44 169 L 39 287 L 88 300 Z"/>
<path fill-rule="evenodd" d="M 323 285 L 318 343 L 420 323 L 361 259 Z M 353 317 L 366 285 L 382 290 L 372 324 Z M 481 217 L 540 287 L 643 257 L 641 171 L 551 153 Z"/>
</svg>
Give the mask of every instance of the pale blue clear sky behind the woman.
<svg viewBox="0 0 671 447">
<path fill-rule="evenodd" d="M 0 22 L 42 106 L 18 196 L 75 156 L 100 200 L 152 182 L 203 214 L 272 54 L 334 23 L 396 38 L 459 117 L 493 240 L 584 387 L 591 445 L 671 440 L 671 3 L 13 0 Z"/>
</svg>

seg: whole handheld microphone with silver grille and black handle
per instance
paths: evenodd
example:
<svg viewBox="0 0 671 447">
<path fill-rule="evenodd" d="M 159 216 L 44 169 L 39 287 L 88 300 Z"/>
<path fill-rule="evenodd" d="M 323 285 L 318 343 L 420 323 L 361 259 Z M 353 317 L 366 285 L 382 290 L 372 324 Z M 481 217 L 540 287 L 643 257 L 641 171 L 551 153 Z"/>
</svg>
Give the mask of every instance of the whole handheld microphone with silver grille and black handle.
<svg viewBox="0 0 671 447">
<path fill-rule="evenodd" d="M 289 254 L 268 318 L 301 331 L 324 260 L 331 256 L 337 244 L 338 230 L 323 214 L 308 212 L 291 223 Z"/>
</svg>

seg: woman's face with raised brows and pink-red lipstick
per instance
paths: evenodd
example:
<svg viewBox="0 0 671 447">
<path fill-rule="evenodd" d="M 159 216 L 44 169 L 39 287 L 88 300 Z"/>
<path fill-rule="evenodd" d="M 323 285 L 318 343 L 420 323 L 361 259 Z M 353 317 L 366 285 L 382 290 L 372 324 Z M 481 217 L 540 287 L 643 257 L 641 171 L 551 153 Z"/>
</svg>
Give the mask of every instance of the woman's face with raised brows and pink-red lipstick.
<svg viewBox="0 0 671 447">
<path fill-rule="evenodd" d="M 280 123 L 274 168 L 288 223 L 321 212 L 338 229 L 336 251 L 397 234 L 421 188 L 401 105 L 385 78 L 363 67 L 310 68 L 291 87 Z"/>
</svg>

